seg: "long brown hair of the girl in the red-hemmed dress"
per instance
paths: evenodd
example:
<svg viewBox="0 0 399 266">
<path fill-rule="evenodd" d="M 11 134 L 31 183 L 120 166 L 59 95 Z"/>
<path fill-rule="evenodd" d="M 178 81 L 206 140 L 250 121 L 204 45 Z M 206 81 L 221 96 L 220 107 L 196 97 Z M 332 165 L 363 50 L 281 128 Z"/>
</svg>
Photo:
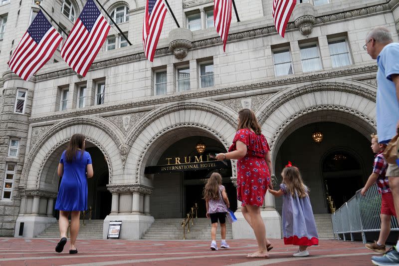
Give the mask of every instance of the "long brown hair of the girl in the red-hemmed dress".
<svg viewBox="0 0 399 266">
<path fill-rule="evenodd" d="M 295 192 L 298 194 L 300 198 L 306 197 L 308 194 L 306 189 L 309 189 L 303 183 L 301 173 L 299 169 L 295 166 L 286 167 L 281 172 L 281 176 L 283 177 L 283 183 L 287 186 L 287 190 L 293 197 L 296 197 Z"/>
</svg>

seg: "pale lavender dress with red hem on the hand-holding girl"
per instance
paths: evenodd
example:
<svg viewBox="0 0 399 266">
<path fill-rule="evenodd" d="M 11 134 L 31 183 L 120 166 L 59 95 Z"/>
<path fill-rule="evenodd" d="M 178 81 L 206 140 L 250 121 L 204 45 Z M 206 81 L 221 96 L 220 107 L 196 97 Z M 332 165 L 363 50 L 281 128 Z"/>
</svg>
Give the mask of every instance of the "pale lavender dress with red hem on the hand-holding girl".
<svg viewBox="0 0 399 266">
<path fill-rule="evenodd" d="M 292 197 L 285 184 L 280 184 L 283 195 L 283 236 L 285 245 L 319 245 L 316 222 L 309 195 Z M 305 188 L 306 192 L 308 191 Z M 297 193 L 295 192 L 297 195 Z"/>
</svg>

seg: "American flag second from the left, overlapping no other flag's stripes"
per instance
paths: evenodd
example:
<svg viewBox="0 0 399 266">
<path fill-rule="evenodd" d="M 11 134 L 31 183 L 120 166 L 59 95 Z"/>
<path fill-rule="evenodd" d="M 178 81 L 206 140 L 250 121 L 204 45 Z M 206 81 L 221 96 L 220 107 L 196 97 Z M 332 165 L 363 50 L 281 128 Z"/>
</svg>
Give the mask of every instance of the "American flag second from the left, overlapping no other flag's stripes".
<svg viewBox="0 0 399 266">
<path fill-rule="evenodd" d="M 86 76 L 110 28 L 94 1 L 87 0 L 62 46 L 62 58 L 76 73 Z"/>
</svg>

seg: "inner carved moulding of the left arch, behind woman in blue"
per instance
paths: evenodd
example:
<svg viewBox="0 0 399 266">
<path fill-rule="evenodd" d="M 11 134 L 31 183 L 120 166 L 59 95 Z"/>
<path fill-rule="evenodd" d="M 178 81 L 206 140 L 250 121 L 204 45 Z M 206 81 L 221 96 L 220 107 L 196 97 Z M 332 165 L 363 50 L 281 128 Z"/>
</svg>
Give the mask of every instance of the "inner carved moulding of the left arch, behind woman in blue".
<svg viewBox="0 0 399 266">
<path fill-rule="evenodd" d="M 37 189 L 41 189 L 41 182 L 43 181 L 44 178 L 47 179 L 48 177 L 51 176 L 51 175 L 48 174 L 48 172 L 49 172 L 49 166 L 48 166 L 48 164 L 51 164 L 51 161 L 58 161 L 58 160 L 59 160 L 59 156 L 54 157 L 54 156 L 52 156 L 52 155 L 54 155 L 54 153 L 55 153 L 59 148 L 61 148 L 63 145 L 67 144 L 67 143 L 70 141 L 70 139 L 71 139 L 71 138 L 69 137 L 69 138 L 65 138 L 65 139 L 61 140 L 61 141 L 58 142 L 56 145 L 54 145 L 54 146 L 46 153 L 46 155 L 44 156 L 44 159 L 42 160 L 42 162 L 41 162 L 41 164 L 40 164 L 40 167 L 39 167 L 39 169 L 38 169 L 38 171 L 37 171 L 37 175 L 36 175 L 36 180 L 37 180 L 37 185 L 36 185 L 36 187 L 37 187 Z M 112 163 L 111 163 L 110 156 L 109 156 L 107 150 L 106 150 L 106 149 L 104 148 L 104 146 L 103 146 L 99 141 L 97 141 L 96 139 L 87 137 L 87 138 L 86 138 L 86 146 L 87 146 L 87 142 L 89 142 L 89 143 L 95 145 L 95 146 L 102 152 L 102 154 L 104 155 L 104 159 L 105 159 L 105 161 L 106 161 L 106 163 L 107 163 L 107 166 L 108 166 L 109 184 L 111 184 L 111 183 L 112 183 L 112 173 L 113 173 L 113 171 L 112 171 Z M 62 153 L 62 152 L 61 152 L 61 153 Z M 97 173 L 96 173 L 96 174 L 97 174 Z M 44 175 L 44 176 L 43 176 L 43 175 Z M 43 176 L 43 178 L 42 178 L 42 176 Z M 47 180 L 44 180 L 44 181 L 45 181 L 45 183 L 48 183 Z M 43 188 L 43 189 L 44 189 L 44 190 L 47 190 L 47 191 L 51 191 L 51 190 L 48 190 L 48 188 Z M 55 189 L 56 189 L 56 188 L 55 188 Z M 53 191 L 53 192 L 57 192 L 57 191 Z"/>
</svg>

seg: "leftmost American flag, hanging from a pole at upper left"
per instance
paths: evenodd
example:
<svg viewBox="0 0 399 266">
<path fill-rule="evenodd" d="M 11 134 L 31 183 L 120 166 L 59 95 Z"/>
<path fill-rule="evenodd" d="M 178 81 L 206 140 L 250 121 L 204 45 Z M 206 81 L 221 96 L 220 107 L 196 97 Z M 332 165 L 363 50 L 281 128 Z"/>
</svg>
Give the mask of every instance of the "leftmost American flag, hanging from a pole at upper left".
<svg viewBox="0 0 399 266">
<path fill-rule="evenodd" d="M 11 70 L 27 80 L 54 54 L 62 36 L 40 10 L 7 62 Z"/>
</svg>

